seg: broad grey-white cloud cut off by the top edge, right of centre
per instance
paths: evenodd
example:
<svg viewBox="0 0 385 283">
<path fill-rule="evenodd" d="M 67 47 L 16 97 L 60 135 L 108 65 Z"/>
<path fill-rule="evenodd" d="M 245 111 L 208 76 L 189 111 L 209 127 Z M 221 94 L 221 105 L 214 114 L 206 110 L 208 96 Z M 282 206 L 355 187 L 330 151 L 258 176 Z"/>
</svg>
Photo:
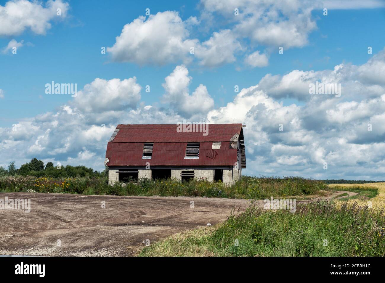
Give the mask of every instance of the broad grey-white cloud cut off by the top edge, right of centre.
<svg viewBox="0 0 385 283">
<path fill-rule="evenodd" d="M 320 1 L 306 0 L 201 0 L 204 10 L 235 23 L 234 34 L 267 46 L 303 47 L 316 29 L 311 11 Z M 234 10 L 238 9 L 238 15 Z M 213 16 L 214 17 L 214 16 Z"/>
</svg>

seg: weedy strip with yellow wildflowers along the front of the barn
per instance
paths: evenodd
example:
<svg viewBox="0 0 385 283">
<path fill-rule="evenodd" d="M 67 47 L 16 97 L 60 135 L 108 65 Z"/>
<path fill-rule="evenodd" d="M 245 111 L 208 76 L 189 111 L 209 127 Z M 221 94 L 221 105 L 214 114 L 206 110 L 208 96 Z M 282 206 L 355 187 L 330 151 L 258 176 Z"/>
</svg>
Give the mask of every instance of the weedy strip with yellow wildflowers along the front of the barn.
<svg viewBox="0 0 385 283">
<path fill-rule="evenodd" d="M 243 176 L 235 184 L 209 182 L 207 179 L 179 181 L 176 179 L 151 180 L 139 178 L 113 185 L 105 178 L 47 178 L 32 176 L 0 177 L 0 192 L 70 193 L 119 196 L 207 196 L 217 198 L 264 199 L 271 196 L 307 196 L 326 189 L 322 181 L 301 177 Z"/>
</svg>

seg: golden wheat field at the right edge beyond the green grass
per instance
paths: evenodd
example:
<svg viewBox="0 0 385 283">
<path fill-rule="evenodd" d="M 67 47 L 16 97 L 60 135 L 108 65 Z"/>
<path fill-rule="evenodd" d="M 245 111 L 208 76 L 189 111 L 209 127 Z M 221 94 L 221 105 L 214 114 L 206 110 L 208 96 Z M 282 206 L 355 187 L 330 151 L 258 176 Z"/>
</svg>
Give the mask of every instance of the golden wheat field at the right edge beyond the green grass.
<svg viewBox="0 0 385 283">
<path fill-rule="evenodd" d="M 360 189 L 378 189 L 378 194 L 374 198 L 371 199 L 348 199 L 347 203 L 349 205 L 353 203 L 357 203 L 359 206 L 368 206 L 371 201 L 371 205 L 374 211 L 381 211 L 383 210 L 383 214 L 385 215 L 385 183 L 368 183 L 368 184 L 330 184 L 328 185 L 331 189 L 338 189 L 342 188 L 348 189 L 348 188 L 360 188 Z M 340 206 L 342 203 L 346 202 L 346 200 L 339 199 L 336 201 L 337 205 Z"/>
</svg>

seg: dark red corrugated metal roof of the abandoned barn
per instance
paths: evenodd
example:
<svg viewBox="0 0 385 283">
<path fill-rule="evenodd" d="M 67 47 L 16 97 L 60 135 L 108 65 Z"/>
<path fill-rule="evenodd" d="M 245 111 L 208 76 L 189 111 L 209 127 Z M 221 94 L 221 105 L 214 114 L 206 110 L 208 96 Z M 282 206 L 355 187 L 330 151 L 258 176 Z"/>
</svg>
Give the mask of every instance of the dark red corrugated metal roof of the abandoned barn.
<svg viewBox="0 0 385 283">
<path fill-rule="evenodd" d="M 202 132 L 177 132 L 177 125 L 118 125 L 115 138 L 108 142 L 105 157 L 108 166 L 233 166 L 237 149 L 230 147 L 234 134 L 242 124 L 208 124 L 207 136 Z M 145 142 L 153 142 L 151 159 L 142 159 Z M 187 142 L 199 142 L 199 159 L 185 159 Z M 222 142 L 214 157 L 213 142 Z M 214 157 L 214 158 L 213 158 Z"/>
</svg>

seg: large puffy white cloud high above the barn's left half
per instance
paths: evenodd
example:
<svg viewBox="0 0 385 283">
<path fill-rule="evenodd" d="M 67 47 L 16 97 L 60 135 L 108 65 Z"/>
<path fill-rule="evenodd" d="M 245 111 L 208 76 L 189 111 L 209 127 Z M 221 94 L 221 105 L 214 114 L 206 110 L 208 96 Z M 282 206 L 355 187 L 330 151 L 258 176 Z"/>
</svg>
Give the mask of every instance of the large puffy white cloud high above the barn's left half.
<svg viewBox="0 0 385 283">
<path fill-rule="evenodd" d="M 164 65 L 179 60 L 187 62 L 190 47 L 197 40 L 188 39 L 186 23 L 177 12 L 159 12 L 148 18 L 141 16 L 124 25 L 107 52 L 118 62 L 135 62 L 139 65 Z"/>
</svg>

